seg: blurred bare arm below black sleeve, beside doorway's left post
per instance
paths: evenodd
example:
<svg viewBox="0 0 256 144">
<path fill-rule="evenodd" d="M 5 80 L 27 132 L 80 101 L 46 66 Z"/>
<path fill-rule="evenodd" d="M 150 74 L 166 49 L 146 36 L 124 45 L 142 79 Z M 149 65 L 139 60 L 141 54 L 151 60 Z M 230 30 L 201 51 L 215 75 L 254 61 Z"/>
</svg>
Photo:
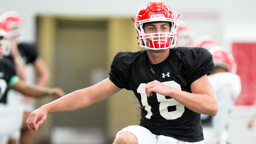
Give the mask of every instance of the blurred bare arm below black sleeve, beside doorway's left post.
<svg viewBox="0 0 256 144">
<path fill-rule="evenodd" d="M 42 58 L 40 57 L 33 62 L 33 66 L 38 77 L 37 84 L 44 86 L 49 80 L 50 72 L 48 67 L 44 63 L 44 60 L 42 60 Z"/>
</svg>

